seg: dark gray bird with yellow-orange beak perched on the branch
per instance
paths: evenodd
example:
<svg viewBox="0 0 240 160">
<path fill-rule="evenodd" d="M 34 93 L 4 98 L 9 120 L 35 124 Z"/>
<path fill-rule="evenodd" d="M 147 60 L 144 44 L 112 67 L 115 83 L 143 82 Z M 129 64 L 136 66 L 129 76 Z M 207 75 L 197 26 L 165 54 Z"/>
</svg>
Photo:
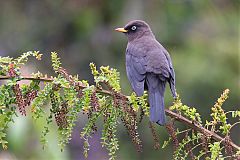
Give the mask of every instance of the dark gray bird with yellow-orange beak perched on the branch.
<svg viewBox="0 0 240 160">
<path fill-rule="evenodd" d="M 141 20 L 129 22 L 123 32 L 128 38 L 126 49 L 127 76 L 137 96 L 148 90 L 150 120 L 159 125 L 166 123 L 164 112 L 164 92 L 169 83 L 176 98 L 175 73 L 167 50 L 156 40 L 149 25 Z"/>
</svg>

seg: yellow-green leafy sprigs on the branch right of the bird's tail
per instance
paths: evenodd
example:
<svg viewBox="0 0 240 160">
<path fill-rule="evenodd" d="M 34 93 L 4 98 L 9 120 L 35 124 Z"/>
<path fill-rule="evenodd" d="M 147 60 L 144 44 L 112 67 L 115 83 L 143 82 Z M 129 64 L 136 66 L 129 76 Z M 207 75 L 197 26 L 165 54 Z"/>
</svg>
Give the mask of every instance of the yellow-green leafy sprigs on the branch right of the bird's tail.
<svg viewBox="0 0 240 160">
<path fill-rule="evenodd" d="M 231 113 L 231 116 L 233 118 L 236 118 L 240 115 L 240 113 L 239 113 L 239 111 L 229 111 L 229 112 L 225 113 L 225 111 L 222 109 L 222 105 L 228 98 L 228 94 L 229 94 L 229 89 L 226 89 L 223 92 L 223 94 L 220 96 L 220 98 L 218 98 L 215 105 L 211 108 L 212 120 L 211 121 L 206 120 L 205 125 L 202 124 L 201 116 L 197 112 L 197 110 L 195 108 L 190 108 L 186 105 L 183 105 L 179 96 L 177 97 L 174 104 L 169 109 L 175 110 L 176 112 L 188 117 L 190 120 L 192 120 L 193 123 L 196 123 L 200 127 L 205 126 L 207 129 L 210 128 L 212 133 L 221 132 L 222 135 L 224 135 L 224 136 L 226 135 L 226 137 L 228 137 L 228 142 L 231 142 L 231 139 L 228 136 L 228 134 L 230 133 L 230 129 L 234 125 L 237 125 L 239 123 L 239 121 L 235 122 L 234 124 L 231 125 L 230 123 L 227 122 L 226 114 Z M 178 135 L 180 132 L 176 132 L 176 133 Z M 192 135 L 195 135 L 195 134 L 192 134 Z M 208 135 L 208 136 L 211 136 L 211 135 Z M 225 137 L 225 139 L 227 139 L 226 137 Z M 192 136 L 192 137 L 188 136 L 188 139 L 187 139 L 188 141 L 186 141 L 186 139 L 183 139 L 179 143 L 179 147 L 176 150 L 176 152 L 175 152 L 176 154 L 174 157 L 176 159 L 186 159 L 188 156 L 190 156 L 190 153 L 192 152 L 192 150 L 194 150 L 197 147 L 198 148 L 202 147 L 202 150 L 200 150 L 199 154 L 195 156 L 197 159 L 201 159 L 202 157 L 204 157 L 204 155 L 205 155 L 205 159 L 211 159 L 211 160 L 225 159 L 222 155 L 223 148 L 225 148 L 225 152 L 227 155 L 229 155 L 229 153 L 231 153 L 230 155 L 233 155 L 232 146 L 229 145 L 229 143 L 226 143 L 224 139 L 221 142 L 219 142 L 219 141 L 210 142 L 209 138 L 210 137 L 207 137 L 206 135 L 204 135 L 202 133 L 197 134 L 197 136 Z M 201 145 L 199 144 L 199 140 L 201 142 L 200 143 Z M 187 146 L 190 143 L 192 143 L 192 145 L 194 145 L 194 147 L 192 149 L 190 149 L 191 152 L 190 151 L 185 152 L 183 150 L 183 148 L 185 147 L 186 150 L 188 150 L 187 148 L 189 148 L 189 147 L 187 147 Z M 163 147 L 165 147 L 166 144 L 168 144 L 168 141 L 164 142 Z M 228 150 L 226 150 L 227 148 L 228 148 Z M 210 155 L 211 155 L 210 157 L 206 156 L 208 152 L 210 152 Z M 182 155 L 185 155 L 185 156 L 182 156 Z"/>
</svg>

